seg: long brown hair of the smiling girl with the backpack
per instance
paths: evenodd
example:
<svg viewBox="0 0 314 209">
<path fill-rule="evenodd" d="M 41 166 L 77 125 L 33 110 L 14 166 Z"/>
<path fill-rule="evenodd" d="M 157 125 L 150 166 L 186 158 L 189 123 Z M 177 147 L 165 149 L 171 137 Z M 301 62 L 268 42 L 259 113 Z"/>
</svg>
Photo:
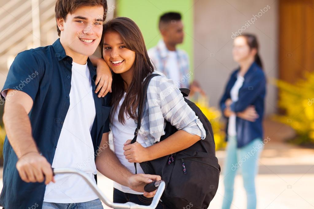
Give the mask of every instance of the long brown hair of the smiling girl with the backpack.
<svg viewBox="0 0 314 209">
<path fill-rule="evenodd" d="M 137 108 L 143 99 L 143 80 L 154 71 L 154 67 L 149 60 L 143 35 L 133 20 L 126 17 L 118 17 L 109 20 L 103 25 L 103 33 L 100 41 L 101 57 L 103 57 L 104 35 L 106 32 L 116 31 L 120 34 L 123 43 L 127 49 L 135 52 L 135 60 L 133 63 L 133 78 L 130 86 L 128 86 L 127 94 L 120 107 L 118 113 L 119 122 L 124 124 L 124 113 L 126 112 L 132 119 L 137 119 Z M 120 74 L 112 72 L 112 95 L 111 95 L 111 113 L 113 114 L 119 105 L 124 94 L 124 82 Z"/>
</svg>

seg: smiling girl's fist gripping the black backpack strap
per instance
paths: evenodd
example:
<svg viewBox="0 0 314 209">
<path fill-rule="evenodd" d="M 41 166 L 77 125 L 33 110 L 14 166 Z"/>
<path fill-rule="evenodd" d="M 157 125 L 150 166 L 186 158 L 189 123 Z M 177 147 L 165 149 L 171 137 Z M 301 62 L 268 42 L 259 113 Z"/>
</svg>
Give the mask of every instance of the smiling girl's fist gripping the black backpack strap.
<svg viewBox="0 0 314 209">
<path fill-rule="evenodd" d="M 147 149 L 138 142 L 130 144 L 131 141 L 132 140 L 129 139 L 126 143 L 124 143 L 123 154 L 125 159 L 127 159 L 130 163 L 141 163 L 147 161 L 149 158 Z"/>
</svg>

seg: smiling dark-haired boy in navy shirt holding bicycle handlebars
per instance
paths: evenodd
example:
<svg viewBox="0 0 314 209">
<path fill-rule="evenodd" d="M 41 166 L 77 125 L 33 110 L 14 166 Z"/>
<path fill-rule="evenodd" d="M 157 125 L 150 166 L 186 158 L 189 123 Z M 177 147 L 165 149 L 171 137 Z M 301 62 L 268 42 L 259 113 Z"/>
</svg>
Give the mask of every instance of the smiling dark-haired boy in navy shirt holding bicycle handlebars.
<svg viewBox="0 0 314 209">
<path fill-rule="evenodd" d="M 4 208 L 102 208 L 82 178 L 54 177 L 51 166 L 81 170 L 94 181 L 97 168 L 142 192 L 145 184 L 160 179 L 133 175 L 106 152 L 110 98 L 97 97 L 96 72 L 88 58 L 100 42 L 106 9 L 106 0 L 57 0 L 60 39 L 19 53 L 11 65 L 1 92 L 7 132 Z"/>
</svg>

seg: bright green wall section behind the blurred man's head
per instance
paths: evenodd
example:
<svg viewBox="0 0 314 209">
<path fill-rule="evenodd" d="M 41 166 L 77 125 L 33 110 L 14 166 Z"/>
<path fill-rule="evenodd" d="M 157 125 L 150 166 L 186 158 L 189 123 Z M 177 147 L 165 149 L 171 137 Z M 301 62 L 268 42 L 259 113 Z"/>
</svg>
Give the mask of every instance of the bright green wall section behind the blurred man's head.
<svg viewBox="0 0 314 209">
<path fill-rule="evenodd" d="M 158 21 L 165 12 L 180 12 L 184 24 L 185 37 L 178 48 L 185 50 L 190 57 L 193 70 L 193 0 L 116 0 L 118 17 L 131 18 L 141 29 L 147 49 L 157 44 L 160 37 Z"/>
</svg>

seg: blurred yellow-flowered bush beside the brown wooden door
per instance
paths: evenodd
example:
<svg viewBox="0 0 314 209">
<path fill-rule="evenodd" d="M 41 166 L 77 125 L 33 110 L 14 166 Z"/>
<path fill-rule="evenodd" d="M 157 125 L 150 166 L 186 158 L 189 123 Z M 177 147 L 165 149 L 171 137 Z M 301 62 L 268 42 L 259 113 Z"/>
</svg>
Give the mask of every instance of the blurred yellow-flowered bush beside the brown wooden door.
<svg viewBox="0 0 314 209">
<path fill-rule="evenodd" d="M 314 74 L 306 73 L 306 80 L 300 79 L 295 84 L 276 81 L 279 88 L 278 105 L 284 115 L 273 118 L 292 127 L 297 137 L 296 144 L 314 143 Z"/>
</svg>

